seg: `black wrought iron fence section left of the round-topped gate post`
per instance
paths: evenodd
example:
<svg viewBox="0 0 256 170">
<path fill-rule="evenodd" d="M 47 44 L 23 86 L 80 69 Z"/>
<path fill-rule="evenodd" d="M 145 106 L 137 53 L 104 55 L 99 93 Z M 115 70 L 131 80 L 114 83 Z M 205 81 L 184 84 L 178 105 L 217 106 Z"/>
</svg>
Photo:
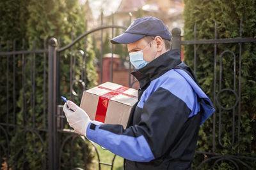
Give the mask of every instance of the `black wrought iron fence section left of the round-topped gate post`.
<svg viewBox="0 0 256 170">
<path fill-rule="evenodd" d="M 2 45 L 2 42 L 0 43 Z M 12 50 L 10 47 L 12 46 Z M 16 41 L 14 40 L 12 45 L 10 41 L 6 43 L 6 52 L 2 52 L 0 49 L 1 63 L 6 64 L 6 70 L 1 76 L 1 87 L 6 87 L 6 94 L 1 94 L 2 108 L 1 120 L 0 120 L 0 167 L 1 169 L 17 169 L 17 159 L 22 157 L 22 167 L 26 165 L 26 137 L 33 136 L 33 148 L 31 152 L 35 154 L 38 162 L 42 163 L 42 169 L 47 169 L 46 157 L 47 155 L 47 142 L 44 136 L 47 134 L 47 110 L 42 108 L 42 114 L 40 120 L 36 120 L 36 62 L 38 54 L 43 59 L 42 66 L 42 103 L 47 103 L 47 48 L 46 39 L 44 39 L 44 49 L 36 50 L 36 43 L 33 43 L 33 50 L 25 50 L 25 41 L 22 39 L 22 50 L 16 51 Z M 3 70 L 3 69 L 2 69 Z M 19 76 L 17 76 L 17 74 Z M 3 89 L 1 90 L 3 92 Z M 22 100 L 18 101 L 17 96 L 22 96 Z M 19 108 L 18 106 L 19 105 Z M 22 112 L 21 117 L 17 116 L 17 113 Z M 40 121 L 40 125 L 37 125 Z M 15 136 L 15 138 L 13 138 Z M 19 143 L 22 141 L 22 143 Z M 19 145 L 17 145 L 19 143 Z M 37 146 L 40 145 L 42 153 L 40 155 L 37 150 Z M 10 155 L 13 155 L 13 159 L 10 160 Z M 12 162 L 12 163 L 10 163 Z M 26 169 L 26 168 L 24 168 Z"/>
</svg>

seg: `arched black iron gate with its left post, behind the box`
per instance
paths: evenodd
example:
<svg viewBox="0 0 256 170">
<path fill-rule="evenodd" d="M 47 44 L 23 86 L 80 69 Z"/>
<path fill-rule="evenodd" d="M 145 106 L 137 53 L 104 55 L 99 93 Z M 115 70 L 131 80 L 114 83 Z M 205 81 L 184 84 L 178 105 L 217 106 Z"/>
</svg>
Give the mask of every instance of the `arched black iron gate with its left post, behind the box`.
<svg viewBox="0 0 256 170">
<path fill-rule="evenodd" d="M 131 22 L 131 15 L 130 15 L 130 22 Z M 68 99 L 74 100 L 74 98 L 78 97 L 81 99 L 81 94 L 78 94 L 76 90 L 74 90 L 74 84 L 79 83 L 83 90 L 86 90 L 86 48 L 87 48 L 87 36 L 92 34 L 93 32 L 100 32 L 100 39 L 101 39 L 101 51 L 100 51 L 100 83 L 102 82 L 102 60 L 103 60 L 103 31 L 104 29 L 111 29 L 112 37 L 114 36 L 114 29 L 126 29 L 124 26 L 114 25 L 114 18 L 112 15 L 112 24 L 113 25 L 103 25 L 103 15 L 101 15 L 101 26 L 97 27 L 96 29 L 92 29 L 90 31 L 86 31 L 81 36 L 77 37 L 72 41 L 72 43 L 68 44 L 67 46 L 58 47 L 58 41 L 55 38 L 51 38 L 49 40 L 49 76 L 48 76 L 48 86 L 49 86 L 49 96 L 48 96 L 48 123 L 49 123 L 49 169 L 60 169 L 61 168 L 61 153 L 63 152 L 63 147 L 68 139 L 72 139 L 72 142 L 75 138 L 78 137 L 74 131 L 70 129 L 64 129 L 63 124 L 65 124 L 65 116 L 63 114 L 63 105 L 61 105 L 60 101 L 60 60 L 65 53 L 65 51 L 70 52 L 70 67 L 69 67 L 69 81 L 70 81 L 70 96 Z M 84 49 L 78 48 L 76 49 L 76 44 L 79 42 L 83 42 Z M 113 81 L 113 46 L 111 48 L 111 81 Z M 76 63 L 77 59 L 81 57 L 81 67 L 77 68 Z M 76 74 L 76 69 L 81 69 L 81 74 Z M 129 68 L 131 70 L 131 66 Z M 131 71 L 130 71 L 131 72 Z M 77 78 L 79 77 L 79 78 Z M 130 78 L 131 80 L 131 78 Z M 132 82 L 130 81 L 130 85 Z M 60 135 L 66 133 L 68 136 L 61 140 Z M 82 136 L 79 136 L 83 138 Z M 84 145 L 86 145 L 85 138 Z M 113 163 L 115 161 L 116 155 L 114 155 L 111 164 L 100 161 L 99 153 L 95 144 L 91 142 L 93 147 L 97 153 L 97 160 L 99 161 L 99 169 L 101 165 L 110 166 L 113 169 Z M 85 153 L 86 154 L 86 153 Z M 73 155 L 73 150 L 71 150 L 71 154 Z M 86 165 L 86 160 L 84 160 L 84 165 Z M 75 167 L 73 164 L 71 165 L 72 169 Z M 85 166 L 86 167 L 86 166 Z"/>
</svg>

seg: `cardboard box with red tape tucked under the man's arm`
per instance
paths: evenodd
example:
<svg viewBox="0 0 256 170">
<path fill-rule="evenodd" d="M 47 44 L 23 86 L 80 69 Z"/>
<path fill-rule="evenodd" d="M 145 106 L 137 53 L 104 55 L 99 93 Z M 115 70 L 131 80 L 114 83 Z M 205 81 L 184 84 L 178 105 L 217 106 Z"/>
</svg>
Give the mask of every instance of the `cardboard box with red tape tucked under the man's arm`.
<svg viewBox="0 0 256 170">
<path fill-rule="evenodd" d="M 91 120 L 127 127 L 132 106 L 138 101 L 138 90 L 106 82 L 83 92 L 80 107 Z"/>
</svg>

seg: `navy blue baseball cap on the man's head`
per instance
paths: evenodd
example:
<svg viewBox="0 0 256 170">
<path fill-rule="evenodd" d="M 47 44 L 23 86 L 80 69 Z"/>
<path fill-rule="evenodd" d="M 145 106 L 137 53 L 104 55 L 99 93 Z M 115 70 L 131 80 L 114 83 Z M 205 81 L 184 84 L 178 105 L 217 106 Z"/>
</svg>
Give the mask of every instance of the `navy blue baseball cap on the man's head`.
<svg viewBox="0 0 256 170">
<path fill-rule="evenodd" d="M 129 44 L 145 36 L 161 36 L 171 40 L 171 33 L 162 20 L 155 17 L 142 17 L 134 20 L 127 30 L 110 40 L 113 44 Z"/>
</svg>

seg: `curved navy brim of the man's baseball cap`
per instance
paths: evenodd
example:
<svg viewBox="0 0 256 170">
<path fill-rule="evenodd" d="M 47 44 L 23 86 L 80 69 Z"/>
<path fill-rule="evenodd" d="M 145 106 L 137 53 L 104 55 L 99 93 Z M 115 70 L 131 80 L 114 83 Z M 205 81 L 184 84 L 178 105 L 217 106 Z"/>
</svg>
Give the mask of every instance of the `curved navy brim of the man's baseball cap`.
<svg viewBox="0 0 256 170">
<path fill-rule="evenodd" d="M 145 35 L 123 33 L 123 34 L 120 34 L 119 36 L 116 36 L 115 38 L 110 39 L 110 42 L 113 44 L 129 44 L 129 43 L 138 41 L 143 37 L 145 37 Z"/>
</svg>

